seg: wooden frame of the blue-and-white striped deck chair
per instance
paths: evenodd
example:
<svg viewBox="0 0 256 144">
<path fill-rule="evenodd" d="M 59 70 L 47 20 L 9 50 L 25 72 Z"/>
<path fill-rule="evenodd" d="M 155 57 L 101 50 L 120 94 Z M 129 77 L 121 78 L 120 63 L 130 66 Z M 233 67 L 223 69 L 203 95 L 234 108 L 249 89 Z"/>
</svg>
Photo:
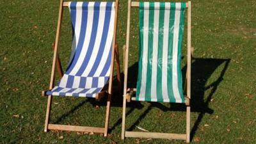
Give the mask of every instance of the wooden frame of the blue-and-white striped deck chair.
<svg viewBox="0 0 256 144">
<path fill-rule="evenodd" d="M 51 81 L 49 90 L 51 90 L 54 86 L 54 77 L 55 77 L 55 68 L 57 65 L 57 70 L 60 76 L 63 76 L 63 70 L 61 68 L 60 58 L 58 56 L 58 45 L 60 40 L 60 33 L 61 33 L 61 21 L 63 15 L 63 7 L 67 7 L 68 2 L 63 2 L 60 0 L 60 8 L 59 8 L 59 16 L 58 16 L 58 25 L 56 31 L 56 40 L 52 47 L 54 47 L 54 55 L 52 61 L 52 70 L 51 70 Z M 114 61 L 116 61 L 116 72 L 117 72 L 117 79 L 118 79 L 118 87 L 121 86 L 121 79 L 120 79 L 120 64 L 119 64 L 119 57 L 118 57 L 118 45 L 116 45 L 116 28 L 117 28 L 117 20 L 118 20 L 118 0 L 115 0 L 115 25 L 114 25 L 114 34 L 113 34 L 113 49 L 112 49 L 112 56 L 111 56 L 111 68 L 110 68 L 110 76 L 109 76 L 109 84 L 108 90 L 102 91 L 97 93 L 96 99 L 100 99 L 106 93 L 108 95 L 108 101 L 106 106 L 106 121 L 104 127 L 84 127 L 84 126 L 74 126 L 74 125 L 57 125 L 57 124 L 49 124 L 50 115 L 51 115 L 51 103 L 52 103 L 52 95 L 48 96 L 47 100 L 47 109 L 46 109 L 46 116 L 45 116 L 45 127 L 44 131 L 47 132 L 49 129 L 51 130 L 60 130 L 60 131 L 80 131 L 80 132 L 95 132 L 95 133 L 104 133 L 106 137 L 108 134 L 108 124 L 109 124 L 109 113 L 110 113 L 110 104 L 111 104 L 111 95 L 113 89 L 113 67 Z M 114 60 L 115 59 L 115 60 Z M 45 91 L 42 91 L 42 95 L 45 95 Z"/>
</svg>

